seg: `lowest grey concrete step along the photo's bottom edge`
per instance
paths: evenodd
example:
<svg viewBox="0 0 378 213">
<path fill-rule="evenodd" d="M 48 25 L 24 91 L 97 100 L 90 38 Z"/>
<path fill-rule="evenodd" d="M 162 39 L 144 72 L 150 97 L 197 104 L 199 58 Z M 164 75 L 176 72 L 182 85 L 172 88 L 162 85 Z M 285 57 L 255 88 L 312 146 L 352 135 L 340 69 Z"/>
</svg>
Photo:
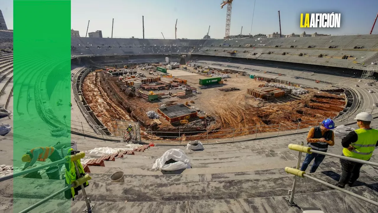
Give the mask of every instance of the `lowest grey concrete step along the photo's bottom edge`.
<svg viewBox="0 0 378 213">
<path fill-rule="evenodd" d="M 378 193 L 366 186 L 346 188 L 346 190 L 377 201 Z M 378 207 L 360 199 L 354 198 L 337 190 L 296 194 L 294 202 L 298 207 L 290 207 L 286 200 L 288 196 L 219 199 L 219 200 L 189 200 L 161 202 L 97 202 L 92 201 L 92 212 L 153 212 L 153 213 L 213 213 L 213 212 L 254 212 L 254 213 L 301 213 L 301 207 L 318 207 L 326 213 L 375 213 Z M 0 198 L 0 212 L 19 212 L 39 199 Z M 71 206 L 70 208 L 66 208 Z M 62 208 L 65 208 L 62 210 Z M 30 211 L 30 213 L 79 213 L 86 210 L 84 201 L 50 200 Z"/>
</svg>

